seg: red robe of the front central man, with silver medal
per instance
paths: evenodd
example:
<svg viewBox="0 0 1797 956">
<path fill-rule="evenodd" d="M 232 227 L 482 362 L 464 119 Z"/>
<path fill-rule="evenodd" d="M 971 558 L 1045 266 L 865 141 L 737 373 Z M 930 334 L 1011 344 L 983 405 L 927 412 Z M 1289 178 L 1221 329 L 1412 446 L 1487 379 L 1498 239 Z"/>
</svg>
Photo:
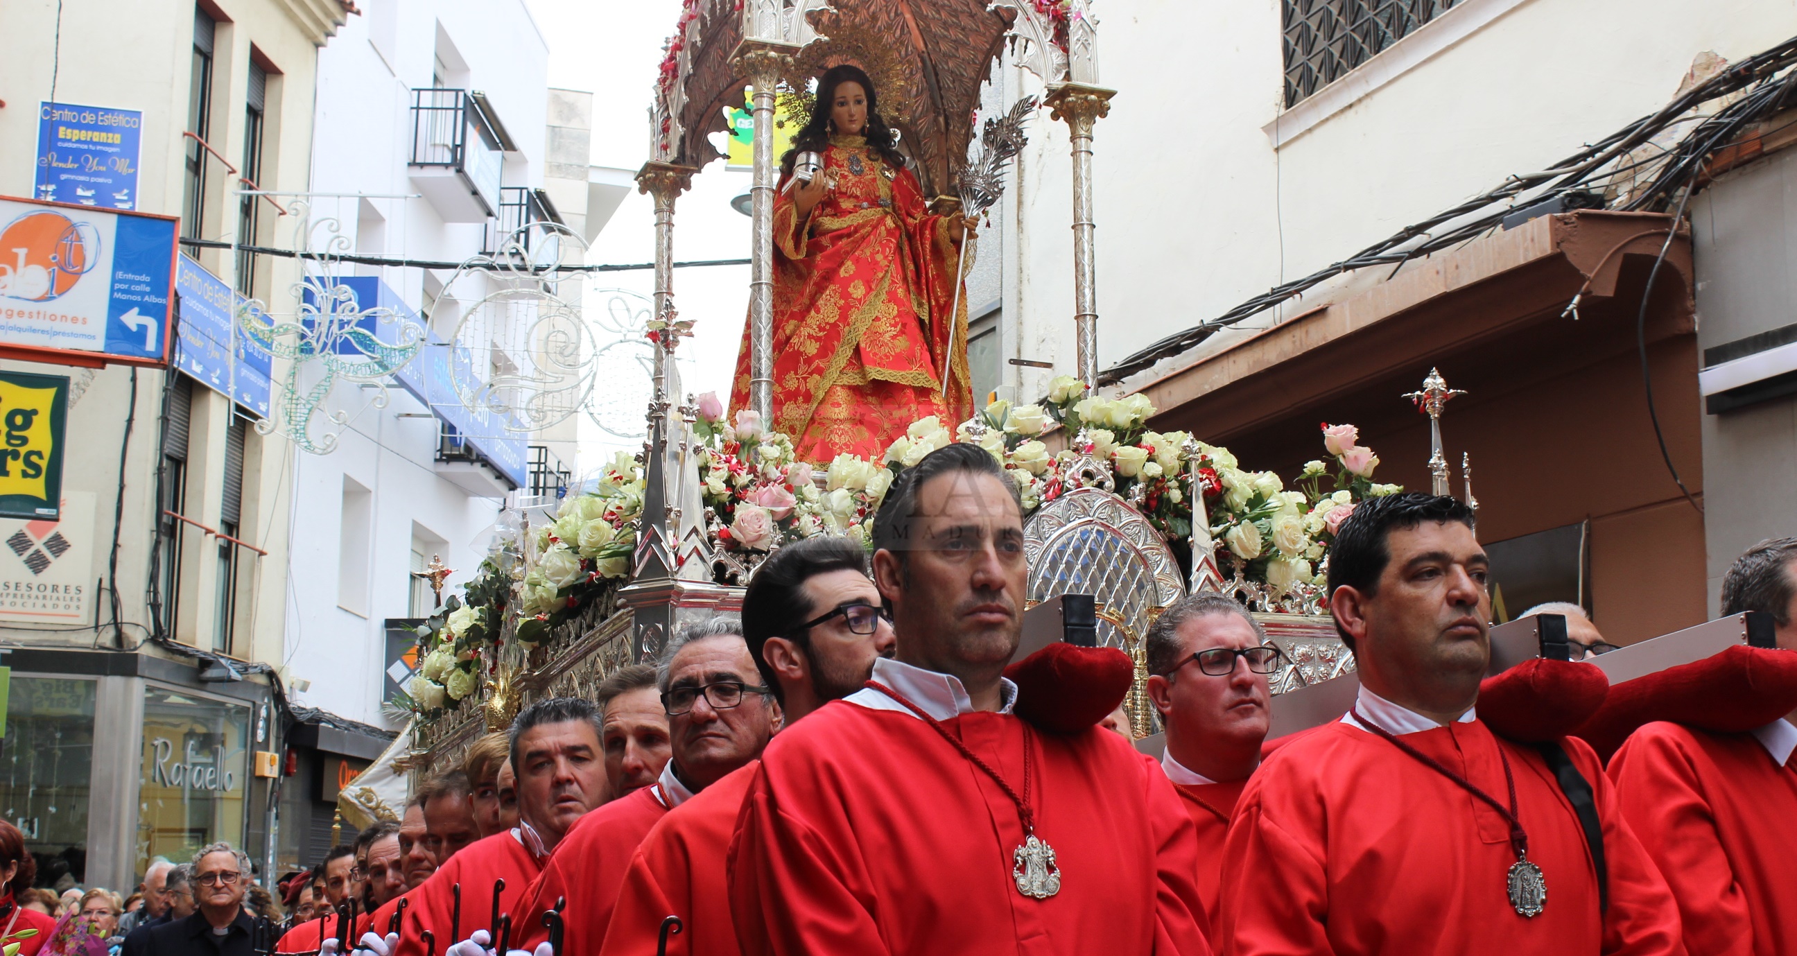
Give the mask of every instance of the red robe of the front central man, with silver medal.
<svg viewBox="0 0 1797 956">
<path fill-rule="evenodd" d="M 1022 791 L 1019 717 L 942 726 Z M 1028 740 L 1035 832 L 1062 873 L 1044 900 L 1012 881 L 1012 800 L 924 721 L 850 699 L 780 731 L 730 848 L 742 951 L 1209 954 L 1191 818 L 1161 767 L 1109 730 Z"/>
</svg>

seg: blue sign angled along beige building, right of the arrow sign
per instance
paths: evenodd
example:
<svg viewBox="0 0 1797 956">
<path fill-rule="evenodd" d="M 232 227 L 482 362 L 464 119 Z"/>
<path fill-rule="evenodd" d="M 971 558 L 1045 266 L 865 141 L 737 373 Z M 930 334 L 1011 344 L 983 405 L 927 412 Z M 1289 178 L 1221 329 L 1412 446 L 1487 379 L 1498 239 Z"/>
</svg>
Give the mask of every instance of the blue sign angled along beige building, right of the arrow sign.
<svg viewBox="0 0 1797 956">
<path fill-rule="evenodd" d="M 232 302 L 243 297 L 185 253 L 174 268 L 174 291 L 181 302 L 174 367 L 266 419 L 273 359 L 243 331 L 232 349 Z"/>
</svg>

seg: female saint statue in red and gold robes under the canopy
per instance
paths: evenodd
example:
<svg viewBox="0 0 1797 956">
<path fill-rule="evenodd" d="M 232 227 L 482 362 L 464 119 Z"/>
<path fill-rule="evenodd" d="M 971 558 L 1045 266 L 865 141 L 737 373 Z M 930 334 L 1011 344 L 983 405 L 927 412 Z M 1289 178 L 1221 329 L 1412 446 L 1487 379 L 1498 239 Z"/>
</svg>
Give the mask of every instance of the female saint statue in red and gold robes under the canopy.
<svg viewBox="0 0 1797 956">
<path fill-rule="evenodd" d="M 931 214 L 895 140 L 873 83 L 841 65 L 818 81 L 810 122 L 782 160 L 767 426 L 792 437 L 801 462 L 845 451 L 879 462 L 911 422 L 936 415 L 952 429 L 972 415 L 965 297 L 949 313 L 976 221 Z M 823 169 L 792 181 L 807 151 Z M 730 397 L 749 406 L 749 329 Z"/>
</svg>

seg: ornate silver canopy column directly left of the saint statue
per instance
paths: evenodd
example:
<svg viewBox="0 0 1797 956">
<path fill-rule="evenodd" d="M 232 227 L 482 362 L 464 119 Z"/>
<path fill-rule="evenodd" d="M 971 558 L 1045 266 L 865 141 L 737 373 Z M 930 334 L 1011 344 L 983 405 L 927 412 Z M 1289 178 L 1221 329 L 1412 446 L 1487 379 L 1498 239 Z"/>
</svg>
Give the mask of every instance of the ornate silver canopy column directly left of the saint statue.
<svg viewBox="0 0 1797 956">
<path fill-rule="evenodd" d="M 796 47 L 744 40 L 733 65 L 755 88 L 753 250 L 749 259 L 749 406 L 775 417 L 775 84 L 792 65 Z"/>
</svg>

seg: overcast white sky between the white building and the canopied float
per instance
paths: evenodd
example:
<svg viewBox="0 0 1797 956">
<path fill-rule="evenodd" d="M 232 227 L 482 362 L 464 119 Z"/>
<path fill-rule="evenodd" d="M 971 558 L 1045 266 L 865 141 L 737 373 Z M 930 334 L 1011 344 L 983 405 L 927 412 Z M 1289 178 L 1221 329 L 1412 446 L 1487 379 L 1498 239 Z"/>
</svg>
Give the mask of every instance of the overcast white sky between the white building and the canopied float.
<svg viewBox="0 0 1797 956">
<path fill-rule="evenodd" d="M 550 86 L 593 93 L 593 165 L 636 171 L 649 158 L 649 102 L 661 47 L 679 18 L 679 0 L 527 0 L 550 45 Z M 674 259 L 746 259 L 749 217 L 730 208 L 731 196 L 748 192 L 748 173 L 726 173 L 717 160 L 694 178 L 674 214 Z M 593 243 L 588 262 L 651 262 L 654 259 L 654 203 L 633 192 Z M 649 270 L 600 273 L 589 284 L 642 295 L 654 291 Z M 717 392 L 724 401 L 742 340 L 749 302 L 748 266 L 676 270 L 674 293 L 681 318 L 697 320 L 694 338 L 681 345 L 694 361 L 686 392 Z M 589 298 L 591 302 L 591 298 Z M 600 383 L 607 388 L 607 383 Z M 597 429 L 591 429 L 597 435 Z M 582 469 L 598 462 L 597 446 L 582 431 Z M 640 446 L 636 446 L 640 447 Z M 634 447 L 633 447 L 634 451 Z"/>
</svg>

